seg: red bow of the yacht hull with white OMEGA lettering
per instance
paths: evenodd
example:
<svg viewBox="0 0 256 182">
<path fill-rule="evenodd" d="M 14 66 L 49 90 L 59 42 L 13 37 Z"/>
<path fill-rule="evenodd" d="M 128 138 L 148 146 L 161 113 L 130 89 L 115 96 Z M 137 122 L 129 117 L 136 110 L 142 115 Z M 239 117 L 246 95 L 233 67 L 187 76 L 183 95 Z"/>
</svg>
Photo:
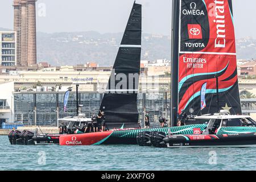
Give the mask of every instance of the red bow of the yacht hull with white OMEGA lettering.
<svg viewBox="0 0 256 182">
<path fill-rule="evenodd" d="M 100 142 L 102 139 L 109 137 L 113 131 L 104 131 L 96 133 L 72 134 L 60 137 L 61 146 L 82 146 L 91 145 Z"/>
</svg>

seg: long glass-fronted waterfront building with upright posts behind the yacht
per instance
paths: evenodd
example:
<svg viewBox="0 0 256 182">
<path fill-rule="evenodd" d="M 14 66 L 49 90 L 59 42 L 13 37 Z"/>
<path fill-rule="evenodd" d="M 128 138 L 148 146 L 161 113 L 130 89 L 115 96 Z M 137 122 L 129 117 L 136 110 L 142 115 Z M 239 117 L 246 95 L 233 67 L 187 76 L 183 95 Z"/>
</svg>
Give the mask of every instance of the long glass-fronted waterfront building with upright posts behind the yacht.
<svg viewBox="0 0 256 182">
<path fill-rule="evenodd" d="M 69 94 L 68 111 L 63 111 L 65 92 L 15 92 L 14 97 L 14 122 L 22 122 L 24 126 L 57 126 L 57 118 L 76 115 L 76 92 Z M 79 92 L 80 113 L 90 118 L 98 114 L 102 93 Z M 158 117 L 169 113 L 170 99 L 166 93 L 139 93 L 138 109 L 139 119 L 143 121 L 144 111 L 150 116 L 152 125 L 158 126 Z M 168 111 L 167 111 L 168 110 Z M 143 122 L 142 122 L 143 123 Z"/>
</svg>

